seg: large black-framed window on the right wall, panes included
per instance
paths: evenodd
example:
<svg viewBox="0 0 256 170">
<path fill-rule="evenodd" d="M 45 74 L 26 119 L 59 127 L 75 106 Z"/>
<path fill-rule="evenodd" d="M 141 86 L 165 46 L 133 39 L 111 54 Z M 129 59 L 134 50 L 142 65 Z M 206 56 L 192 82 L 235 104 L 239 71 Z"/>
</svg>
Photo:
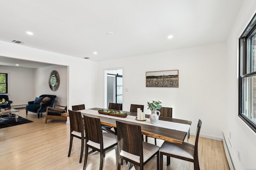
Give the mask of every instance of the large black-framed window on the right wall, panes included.
<svg viewBox="0 0 256 170">
<path fill-rule="evenodd" d="M 256 16 L 239 38 L 239 117 L 256 132 Z"/>
</svg>

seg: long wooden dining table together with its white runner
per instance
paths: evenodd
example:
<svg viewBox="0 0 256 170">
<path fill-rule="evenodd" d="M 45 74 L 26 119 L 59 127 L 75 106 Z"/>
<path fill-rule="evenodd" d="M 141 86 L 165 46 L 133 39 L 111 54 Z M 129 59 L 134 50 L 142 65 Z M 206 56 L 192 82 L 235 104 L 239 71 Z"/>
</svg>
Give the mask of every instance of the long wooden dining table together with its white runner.
<svg viewBox="0 0 256 170">
<path fill-rule="evenodd" d="M 127 117 L 116 117 L 112 115 L 100 114 L 98 110 L 107 110 L 104 108 L 90 108 L 78 110 L 83 115 L 100 118 L 100 123 L 102 125 L 107 125 L 111 127 L 116 127 L 116 121 L 121 121 L 124 123 L 130 123 L 141 126 L 142 135 L 148 137 L 154 137 L 156 139 L 161 139 L 170 143 L 176 143 L 182 145 L 184 139 L 190 136 L 190 125 L 192 121 L 175 119 L 170 117 L 159 117 L 158 123 L 150 123 L 149 115 L 146 114 L 146 121 L 139 121 L 136 119 L 137 113 L 130 111 L 120 111 L 122 113 L 127 113 Z M 68 113 L 62 113 L 62 116 L 69 116 Z"/>
</svg>

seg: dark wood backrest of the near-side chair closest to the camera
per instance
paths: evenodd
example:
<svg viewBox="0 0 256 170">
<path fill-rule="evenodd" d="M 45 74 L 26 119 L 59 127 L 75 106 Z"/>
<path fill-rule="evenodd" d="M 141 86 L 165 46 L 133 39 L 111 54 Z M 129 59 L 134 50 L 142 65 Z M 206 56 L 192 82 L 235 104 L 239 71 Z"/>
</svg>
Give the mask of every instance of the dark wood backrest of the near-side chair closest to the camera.
<svg viewBox="0 0 256 170">
<path fill-rule="evenodd" d="M 140 156 L 143 162 L 142 135 L 140 125 L 116 121 L 118 154 L 121 150 Z"/>
</svg>

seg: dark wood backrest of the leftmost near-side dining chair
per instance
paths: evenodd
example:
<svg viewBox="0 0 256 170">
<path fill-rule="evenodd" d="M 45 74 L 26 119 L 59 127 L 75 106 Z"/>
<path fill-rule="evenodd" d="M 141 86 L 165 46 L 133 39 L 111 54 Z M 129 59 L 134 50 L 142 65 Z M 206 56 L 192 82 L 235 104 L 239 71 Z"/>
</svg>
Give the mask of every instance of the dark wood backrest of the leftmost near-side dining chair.
<svg viewBox="0 0 256 170">
<path fill-rule="evenodd" d="M 68 114 L 70 119 L 70 133 L 72 133 L 72 131 L 77 131 L 81 132 L 82 136 L 84 136 L 84 125 L 81 112 L 68 109 Z"/>
</svg>

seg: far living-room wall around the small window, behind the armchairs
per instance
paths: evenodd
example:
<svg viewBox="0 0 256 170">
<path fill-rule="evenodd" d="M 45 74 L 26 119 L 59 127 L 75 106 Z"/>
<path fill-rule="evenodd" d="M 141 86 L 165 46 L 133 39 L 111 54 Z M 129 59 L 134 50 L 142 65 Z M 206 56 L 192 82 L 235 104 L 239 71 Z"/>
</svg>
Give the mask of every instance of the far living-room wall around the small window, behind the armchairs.
<svg viewBox="0 0 256 170">
<path fill-rule="evenodd" d="M 0 66 L 0 72 L 8 73 L 8 97 L 13 102 L 12 107 L 27 105 L 28 101 L 35 99 L 35 70 L 32 68 Z"/>
</svg>

